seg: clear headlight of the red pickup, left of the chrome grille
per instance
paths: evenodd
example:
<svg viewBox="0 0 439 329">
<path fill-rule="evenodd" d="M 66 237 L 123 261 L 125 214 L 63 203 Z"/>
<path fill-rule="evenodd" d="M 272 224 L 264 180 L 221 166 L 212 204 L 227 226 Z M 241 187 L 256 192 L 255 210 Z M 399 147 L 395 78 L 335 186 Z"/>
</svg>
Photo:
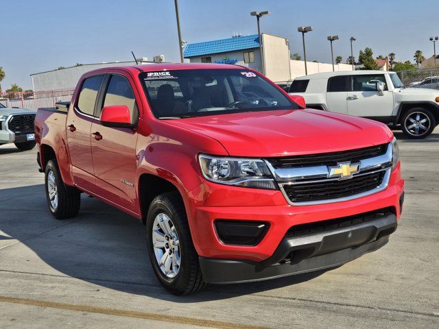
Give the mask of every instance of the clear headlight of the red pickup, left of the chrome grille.
<svg viewBox="0 0 439 329">
<path fill-rule="evenodd" d="M 272 173 L 260 159 L 228 158 L 200 154 L 201 171 L 206 180 L 219 184 L 276 190 Z"/>
</svg>

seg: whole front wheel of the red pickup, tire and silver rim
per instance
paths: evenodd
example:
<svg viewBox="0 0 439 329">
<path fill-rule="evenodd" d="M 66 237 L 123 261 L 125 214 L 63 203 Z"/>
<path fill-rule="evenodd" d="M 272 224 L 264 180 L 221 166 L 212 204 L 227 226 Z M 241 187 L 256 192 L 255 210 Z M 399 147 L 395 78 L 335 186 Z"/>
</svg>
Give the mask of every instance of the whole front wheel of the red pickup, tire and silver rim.
<svg viewBox="0 0 439 329">
<path fill-rule="evenodd" d="M 146 240 L 152 268 L 165 289 L 187 295 L 206 287 L 185 206 L 177 193 L 163 193 L 152 200 L 146 219 Z"/>
</svg>

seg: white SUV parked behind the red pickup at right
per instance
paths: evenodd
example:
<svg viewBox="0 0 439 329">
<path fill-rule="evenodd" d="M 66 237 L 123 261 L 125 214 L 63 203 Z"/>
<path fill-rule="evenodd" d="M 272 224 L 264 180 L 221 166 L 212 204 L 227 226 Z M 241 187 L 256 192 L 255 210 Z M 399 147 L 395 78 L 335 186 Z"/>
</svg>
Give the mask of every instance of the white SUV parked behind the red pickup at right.
<svg viewBox="0 0 439 329">
<path fill-rule="evenodd" d="M 410 138 L 425 138 L 439 123 L 439 91 L 404 88 L 398 75 L 384 71 L 339 71 L 298 77 L 289 93 L 308 108 L 365 117 L 400 126 Z"/>
</svg>

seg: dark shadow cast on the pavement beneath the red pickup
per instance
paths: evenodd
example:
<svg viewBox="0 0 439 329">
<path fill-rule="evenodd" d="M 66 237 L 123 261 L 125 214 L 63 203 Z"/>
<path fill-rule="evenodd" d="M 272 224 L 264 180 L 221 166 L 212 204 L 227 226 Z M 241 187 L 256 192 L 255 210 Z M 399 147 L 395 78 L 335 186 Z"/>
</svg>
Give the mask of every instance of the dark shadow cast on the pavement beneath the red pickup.
<svg viewBox="0 0 439 329">
<path fill-rule="evenodd" d="M 211 285 L 202 293 L 176 297 L 156 280 L 147 256 L 144 226 L 137 219 L 83 195 L 78 217 L 58 221 L 47 209 L 43 184 L 0 190 L 0 199 L 0 230 L 23 243 L 0 250 L 7 260 L 2 262 L 3 266 L 0 264 L 3 270 L 54 276 L 63 273 L 117 291 L 184 303 L 268 291 L 305 282 L 325 272 L 247 284 Z M 9 242 L 5 240 L 3 243 Z M 41 265 L 41 260 L 51 268 Z"/>
</svg>

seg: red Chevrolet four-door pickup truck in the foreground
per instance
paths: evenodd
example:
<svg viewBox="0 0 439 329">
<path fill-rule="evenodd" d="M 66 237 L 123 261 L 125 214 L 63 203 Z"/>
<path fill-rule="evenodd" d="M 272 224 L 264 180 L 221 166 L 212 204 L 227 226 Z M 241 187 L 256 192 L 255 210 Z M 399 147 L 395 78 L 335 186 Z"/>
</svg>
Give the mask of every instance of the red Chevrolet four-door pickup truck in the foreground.
<svg viewBox="0 0 439 329">
<path fill-rule="evenodd" d="M 57 219 L 80 193 L 139 218 L 176 294 L 335 267 L 388 242 L 404 181 L 392 132 L 305 108 L 252 69 L 99 69 L 36 114 Z"/>
</svg>

